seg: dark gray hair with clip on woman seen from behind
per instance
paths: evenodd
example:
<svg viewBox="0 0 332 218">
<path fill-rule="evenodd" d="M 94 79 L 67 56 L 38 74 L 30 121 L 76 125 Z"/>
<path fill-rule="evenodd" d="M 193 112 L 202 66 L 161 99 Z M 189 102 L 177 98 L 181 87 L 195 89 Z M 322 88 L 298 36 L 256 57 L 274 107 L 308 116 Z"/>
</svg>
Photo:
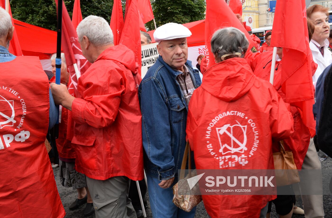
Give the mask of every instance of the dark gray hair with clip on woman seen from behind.
<svg viewBox="0 0 332 218">
<path fill-rule="evenodd" d="M 227 27 L 218 29 L 214 32 L 211 39 L 211 51 L 218 58 L 221 59 L 223 55 L 229 55 L 228 58 L 238 57 L 235 53 L 241 53 L 241 58 L 245 55 L 248 49 L 249 42 L 239 29 L 234 27 Z"/>
</svg>

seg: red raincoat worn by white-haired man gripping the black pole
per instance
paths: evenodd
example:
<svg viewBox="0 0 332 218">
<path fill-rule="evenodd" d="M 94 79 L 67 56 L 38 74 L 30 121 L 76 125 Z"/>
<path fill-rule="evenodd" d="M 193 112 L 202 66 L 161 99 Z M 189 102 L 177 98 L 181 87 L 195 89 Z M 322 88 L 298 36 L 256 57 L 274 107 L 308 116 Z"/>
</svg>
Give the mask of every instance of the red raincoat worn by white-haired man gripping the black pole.
<svg viewBox="0 0 332 218">
<path fill-rule="evenodd" d="M 76 171 L 106 180 L 142 180 L 143 146 L 134 53 L 124 45 L 106 49 L 78 80 L 72 104 Z"/>
</svg>

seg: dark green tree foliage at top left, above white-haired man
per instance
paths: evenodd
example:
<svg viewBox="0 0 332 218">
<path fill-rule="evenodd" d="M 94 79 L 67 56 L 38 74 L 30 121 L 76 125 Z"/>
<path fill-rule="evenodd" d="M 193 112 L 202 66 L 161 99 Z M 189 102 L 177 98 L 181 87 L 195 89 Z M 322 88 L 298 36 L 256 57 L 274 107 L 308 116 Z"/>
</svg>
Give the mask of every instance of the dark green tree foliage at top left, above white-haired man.
<svg viewBox="0 0 332 218">
<path fill-rule="evenodd" d="M 73 13 L 74 0 L 64 0 L 68 14 Z M 10 0 L 13 18 L 47 29 L 56 30 L 56 6 L 54 0 Z M 111 20 L 113 0 L 81 0 L 83 19 L 96 15 Z"/>
</svg>

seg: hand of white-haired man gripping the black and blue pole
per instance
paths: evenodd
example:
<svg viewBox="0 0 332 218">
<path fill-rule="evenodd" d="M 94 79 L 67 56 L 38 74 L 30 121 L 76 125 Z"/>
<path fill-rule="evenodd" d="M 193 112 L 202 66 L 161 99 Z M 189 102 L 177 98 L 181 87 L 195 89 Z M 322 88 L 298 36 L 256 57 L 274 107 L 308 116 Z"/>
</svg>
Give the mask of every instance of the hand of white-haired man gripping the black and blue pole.
<svg viewBox="0 0 332 218">
<path fill-rule="evenodd" d="M 73 104 L 75 97 L 69 94 L 67 86 L 62 83 L 60 85 L 51 83 L 50 86 L 54 103 L 71 110 L 71 105 Z"/>
</svg>

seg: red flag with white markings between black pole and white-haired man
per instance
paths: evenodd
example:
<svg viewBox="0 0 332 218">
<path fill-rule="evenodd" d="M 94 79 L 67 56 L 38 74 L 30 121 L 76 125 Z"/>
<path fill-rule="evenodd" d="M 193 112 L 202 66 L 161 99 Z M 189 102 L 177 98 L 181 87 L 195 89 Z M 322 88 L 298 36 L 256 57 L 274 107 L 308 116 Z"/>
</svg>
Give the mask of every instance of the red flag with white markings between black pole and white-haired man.
<svg viewBox="0 0 332 218">
<path fill-rule="evenodd" d="M 56 5 L 58 4 L 58 1 L 55 0 Z M 83 74 L 91 65 L 90 62 L 88 62 L 81 50 L 80 43 L 78 42 L 78 37 L 76 30 L 71 23 L 67 8 L 63 2 L 62 4 L 62 40 L 61 40 L 61 45 L 63 49 L 63 53 L 65 54 L 66 57 L 66 63 L 67 63 L 67 68 L 68 72 L 71 78 L 72 86 L 74 90 L 76 91 L 77 89 L 77 76 L 75 72 L 75 67 L 77 66 L 78 70 L 78 76 Z M 72 93 L 70 93 L 72 94 Z"/>
</svg>

